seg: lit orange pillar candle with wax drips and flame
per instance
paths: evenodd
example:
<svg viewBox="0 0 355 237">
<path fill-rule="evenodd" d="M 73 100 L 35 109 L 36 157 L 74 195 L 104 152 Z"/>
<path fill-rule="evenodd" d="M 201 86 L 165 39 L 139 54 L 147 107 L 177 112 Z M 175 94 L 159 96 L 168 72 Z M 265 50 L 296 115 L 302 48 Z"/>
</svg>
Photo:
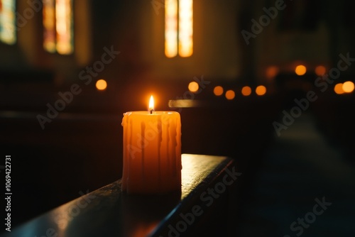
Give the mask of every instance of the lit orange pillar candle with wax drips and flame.
<svg viewBox="0 0 355 237">
<path fill-rule="evenodd" d="M 124 113 L 122 189 L 129 194 L 157 194 L 181 189 L 181 123 L 175 111 Z"/>
</svg>

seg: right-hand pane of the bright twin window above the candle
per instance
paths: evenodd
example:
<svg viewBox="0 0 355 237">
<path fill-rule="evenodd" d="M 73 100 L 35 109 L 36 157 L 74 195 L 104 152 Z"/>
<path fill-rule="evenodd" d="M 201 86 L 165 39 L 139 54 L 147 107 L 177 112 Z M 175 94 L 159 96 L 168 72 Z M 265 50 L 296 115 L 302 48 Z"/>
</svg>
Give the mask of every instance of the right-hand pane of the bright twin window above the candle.
<svg viewBox="0 0 355 237">
<path fill-rule="evenodd" d="M 179 55 L 189 57 L 192 55 L 192 0 L 179 1 Z"/>
</svg>

